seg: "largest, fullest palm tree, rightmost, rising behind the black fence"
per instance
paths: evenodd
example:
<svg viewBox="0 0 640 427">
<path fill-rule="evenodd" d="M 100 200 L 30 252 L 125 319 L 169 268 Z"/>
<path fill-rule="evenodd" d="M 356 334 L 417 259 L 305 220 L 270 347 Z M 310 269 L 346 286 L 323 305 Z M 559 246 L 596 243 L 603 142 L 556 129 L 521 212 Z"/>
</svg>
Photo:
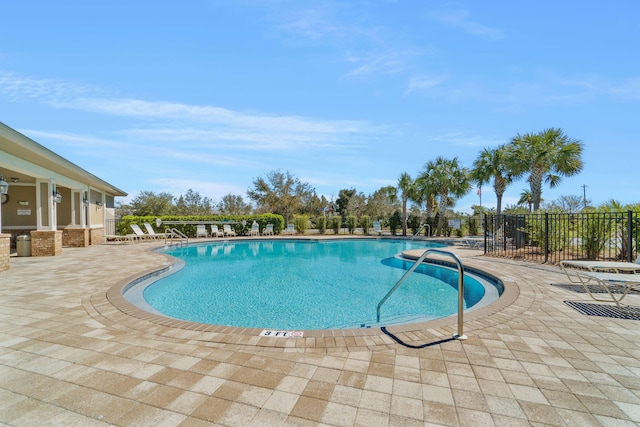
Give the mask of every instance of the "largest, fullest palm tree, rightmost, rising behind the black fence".
<svg viewBox="0 0 640 427">
<path fill-rule="evenodd" d="M 551 188 L 562 177 L 576 175 L 582 170 L 581 141 L 569 138 L 562 129 L 549 128 L 538 133 L 516 135 L 507 147 L 509 164 L 514 177 L 529 174 L 533 209 L 540 209 L 542 181 Z"/>
</svg>

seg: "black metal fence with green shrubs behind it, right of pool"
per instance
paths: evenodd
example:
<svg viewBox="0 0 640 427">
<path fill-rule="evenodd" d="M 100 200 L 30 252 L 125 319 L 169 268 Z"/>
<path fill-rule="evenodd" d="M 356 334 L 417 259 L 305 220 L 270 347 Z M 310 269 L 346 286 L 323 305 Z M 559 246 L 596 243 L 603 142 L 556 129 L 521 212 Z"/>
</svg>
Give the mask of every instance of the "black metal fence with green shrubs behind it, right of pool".
<svg viewBox="0 0 640 427">
<path fill-rule="evenodd" d="M 634 261 L 638 212 L 486 215 L 485 253 L 557 264 L 565 259 Z"/>
</svg>

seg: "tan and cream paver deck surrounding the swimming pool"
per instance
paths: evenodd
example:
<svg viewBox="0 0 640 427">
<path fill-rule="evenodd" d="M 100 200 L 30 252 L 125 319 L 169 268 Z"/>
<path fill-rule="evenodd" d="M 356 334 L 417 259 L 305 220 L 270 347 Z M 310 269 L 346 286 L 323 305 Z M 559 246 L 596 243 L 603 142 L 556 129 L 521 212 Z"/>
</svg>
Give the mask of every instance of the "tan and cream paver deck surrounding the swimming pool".
<svg viewBox="0 0 640 427">
<path fill-rule="evenodd" d="M 506 293 L 465 317 L 265 338 L 175 323 L 108 291 L 170 264 L 158 242 L 11 258 L 0 273 L 0 422 L 16 426 L 636 426 L 637 320 L 560 268 L 452 248 Z M 639 295 L 629 304 L 640 305 Z M 391 336 L 393 335 L 393 336 Z M 394 339 L 395 337 L 395 339 Z"/>
</svg>

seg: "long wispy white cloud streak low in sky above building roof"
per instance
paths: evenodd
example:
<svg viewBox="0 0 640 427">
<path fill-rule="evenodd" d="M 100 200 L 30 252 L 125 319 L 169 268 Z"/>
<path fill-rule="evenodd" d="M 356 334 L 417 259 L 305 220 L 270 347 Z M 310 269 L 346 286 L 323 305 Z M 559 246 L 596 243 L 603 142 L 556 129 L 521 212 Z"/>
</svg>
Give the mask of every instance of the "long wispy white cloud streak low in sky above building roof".
<svg viewBox="0 0 640 427">
<path fill-rule="evenodd" d="M 310 147 L 340 150 L 352 149 L 360 138 L 366 139 L 368 135 L 384 132 L 380 126 L 366 121 L 247 113 L 211 105 L 114 97 L 99 88 L 73 82 L 20 78 L 12 74 L 0 74 L 2 93 L 8 94 L 12 100 L 24 100 L 27 97 L 32 102 L 57 109 L 74 109 L 133 120 L 137 124 L 135 127 L 125 127 L 111 135 L 124 141 L 179 141 L 238 150 Z M 101 145 L 100 141 L 87 141 L 87 137 L 82 136 L 48 134 L 46 137 L 64 139 L 66 143 L 79 146 L 88 142 L 94 146 Z M 343 142 L 345 139 L 350 141 L 350 147 L 346 147 Z"/>
</svg>

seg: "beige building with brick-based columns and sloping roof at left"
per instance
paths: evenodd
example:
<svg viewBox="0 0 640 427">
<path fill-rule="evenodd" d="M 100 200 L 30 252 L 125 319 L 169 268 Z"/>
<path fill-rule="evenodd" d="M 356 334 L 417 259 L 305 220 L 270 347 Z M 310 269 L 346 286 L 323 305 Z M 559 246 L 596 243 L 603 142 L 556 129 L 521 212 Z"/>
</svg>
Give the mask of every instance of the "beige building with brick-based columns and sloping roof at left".
<svg viewBox="0 0 640 427">
<path fill-rule="evenodd" d="M 0 259 L 6 239 L 13 249 L 24 235 L 32 256 L 103 243 L 114 199 L 127 195 L 1 122 L 0 176 L 9 184 L 1 196 Z"/>
</svg>

